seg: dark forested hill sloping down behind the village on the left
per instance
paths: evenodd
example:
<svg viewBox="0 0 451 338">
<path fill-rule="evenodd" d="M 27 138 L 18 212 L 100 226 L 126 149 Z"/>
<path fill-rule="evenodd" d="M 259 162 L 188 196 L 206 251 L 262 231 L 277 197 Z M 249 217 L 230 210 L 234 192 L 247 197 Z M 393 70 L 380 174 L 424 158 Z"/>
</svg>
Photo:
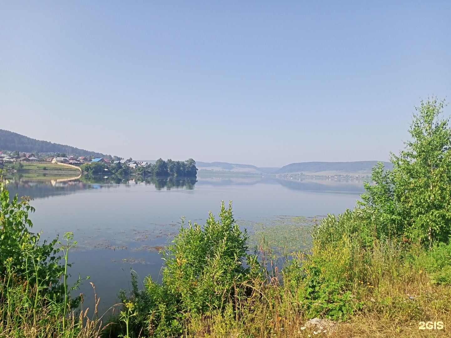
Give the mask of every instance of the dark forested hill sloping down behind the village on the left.
<svg viewBox="0 0 451 338">
<path fill-rule="evenodd" d="M 39 141 L 16 132 L 0 129 L 0 150 L 38 153 L 65 153 L 67 155 L 105 157 L 105 154 L 74 148 L 64 144 Z"/>
</svg>

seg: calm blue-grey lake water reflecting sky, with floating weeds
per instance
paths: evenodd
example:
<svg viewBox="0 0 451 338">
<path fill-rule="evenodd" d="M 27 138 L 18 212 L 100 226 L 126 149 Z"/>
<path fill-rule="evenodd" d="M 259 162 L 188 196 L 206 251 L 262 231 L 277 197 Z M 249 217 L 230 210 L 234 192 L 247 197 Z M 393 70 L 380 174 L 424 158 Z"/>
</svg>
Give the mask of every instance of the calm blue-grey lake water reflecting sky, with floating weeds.
<svg viewBox="0 0 451 338">
<path fill-rule="evenodd" d="M 9 190 L 33 199 L 36 212 L 30 218 L 41 238 L 74 233 L 78 244 L 69 253 L 72 280 L 78 273 L 90 276 L 79 292 L 92 304 L 88 282 L 94 283 L 100 313 L 115 304 L 121 288 L 129 290 L 130 268 L 141 280 L 148 274 L 160 279 L 158 251 L 177 233 L 182 216 L 204 224 L 210 210 L 217 215 L 221 201 L 233 201 L 235 219 L 255 233 L 262 226 L 299 223 L 296 216 L 341 213 L 364 192 L 358 179 L 213 174 L 186 181 L 16 179 Z"/>
</svg>

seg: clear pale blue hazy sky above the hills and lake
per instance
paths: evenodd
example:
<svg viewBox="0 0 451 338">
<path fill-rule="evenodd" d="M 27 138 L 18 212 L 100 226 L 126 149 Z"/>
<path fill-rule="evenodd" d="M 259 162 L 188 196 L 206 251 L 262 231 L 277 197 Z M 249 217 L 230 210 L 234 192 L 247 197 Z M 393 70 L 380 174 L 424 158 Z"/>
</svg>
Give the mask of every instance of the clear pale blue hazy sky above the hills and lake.
<svg viewBox="0 0 451 338">
<path fill-rule="evenodd" d="M 433 94 L 451 99 L 451 1 L 0 2 L 0 129 L 40 140 L 134 159 L 387 160 Z"/>
</svg>

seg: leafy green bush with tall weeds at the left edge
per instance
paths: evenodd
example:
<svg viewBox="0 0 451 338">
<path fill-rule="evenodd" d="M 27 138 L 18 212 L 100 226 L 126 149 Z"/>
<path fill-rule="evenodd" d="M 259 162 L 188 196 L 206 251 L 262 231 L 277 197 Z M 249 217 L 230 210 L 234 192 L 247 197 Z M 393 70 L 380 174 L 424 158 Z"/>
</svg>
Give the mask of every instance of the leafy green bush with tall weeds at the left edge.
<svg viewBox="0 0 451 338">
<path fill-rule="evenodd" d="M 33 224 L 28 213 L 34 211 L 30 199 L 23 197 L 19 201 L 16 195 L 10 201 L 6 184 L 0 171 L 0 335 L 14 332 L 20 336 L 29 325 L 35 330 L 39 326 L 49 329 L 49 318 L 57 321 L 49 335 L 55 334 L 59 325 L 66 328 L 66 314 L 81 300 L 70 298 L 70 292 L 81 280 L 72 288 L 67 285 L 72 234 L 64 235 L 65 247 L 61 247 L 58 238 L 41 242 L 39 233 L 30 232 Z M 58 255 L 61 251 L 63 264 Z M 75 322 L 72 324 L 74 327 Z"/>
</svg>

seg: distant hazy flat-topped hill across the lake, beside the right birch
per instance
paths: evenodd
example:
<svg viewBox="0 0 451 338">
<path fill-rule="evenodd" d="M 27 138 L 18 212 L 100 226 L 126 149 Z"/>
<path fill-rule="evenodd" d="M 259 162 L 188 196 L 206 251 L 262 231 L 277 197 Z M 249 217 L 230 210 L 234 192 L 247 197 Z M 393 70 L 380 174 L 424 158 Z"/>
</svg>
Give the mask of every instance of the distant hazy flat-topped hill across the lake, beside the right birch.
<svg viewBox="0 0 451 338">
<path fill-rule="evenodd" d="M 356 161 L 356 162 L 301 162 L 287 164 L 276 171 L 276 174 L 287 173 L 319 173 L 319 172 L 346 172 L 357 173 L 366 172 L 371 173 L 371 169 L 378 161 Z M 392 169 L 391 162 L 383 162 L 387 169 Z"/>
</svg>

